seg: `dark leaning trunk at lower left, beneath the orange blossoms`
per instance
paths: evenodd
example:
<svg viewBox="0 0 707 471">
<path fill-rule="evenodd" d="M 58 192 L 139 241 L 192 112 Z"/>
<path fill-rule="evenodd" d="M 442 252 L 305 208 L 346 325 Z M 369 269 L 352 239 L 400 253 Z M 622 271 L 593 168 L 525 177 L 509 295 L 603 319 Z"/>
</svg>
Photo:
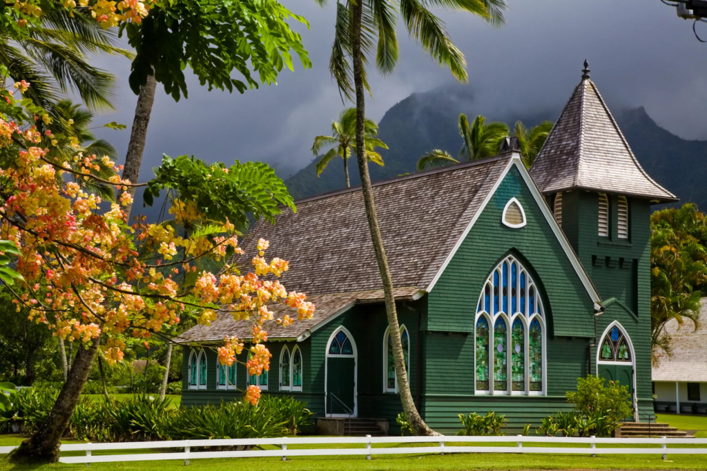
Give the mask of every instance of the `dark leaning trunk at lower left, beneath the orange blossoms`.
<svg viewBox="0 0 707 471">
<path fill-rule="evenodd" d="M 59 393 L 57 402 L 49 412 L 44 424 L 29 439 L 22 442 L 10 455 L 14 462 L 29 463 L 56 463 L 59 460 L 59 445 L 66 427 L 69 426 L 71 415 L 78 400 L 81 390 L 86 384 L 91 365 L 98 351 L 100 337 L 94 338 L 88 348 L 79 347 L 74 366 L 71 366 L 69 377 L 64 383 L 62 392 Z"/>
</svg>

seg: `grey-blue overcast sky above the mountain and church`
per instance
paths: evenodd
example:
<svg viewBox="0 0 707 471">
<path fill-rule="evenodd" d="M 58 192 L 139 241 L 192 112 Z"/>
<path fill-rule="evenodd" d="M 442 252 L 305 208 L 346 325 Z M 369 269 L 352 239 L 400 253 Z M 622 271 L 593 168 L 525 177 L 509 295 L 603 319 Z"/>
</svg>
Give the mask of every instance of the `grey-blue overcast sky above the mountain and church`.
<svg viewBox="0 0 707 471">
<path fill-rule="evenodd" d="M 196 155 L 230 164 L 235 159 L 274 165 L 281 177 L 312 160 L 317 134 L 328 133 L 342 107 L 329 76 L 334 1 L 325 9 L 311 0 L 282 0 L 310 21 L 303 42 L 312 68 L 296 64 L 278 85 L 244 95 L 209 92 L 189 79 L 189 99 L 176 103 L 158 85 L 147 133 L 141 180 L 151 176 L 161 155 Z M 508 0 L 506 25 L 493 29 L 468 13 L 438 12 L 469 64 L 469 86 L 479 102 L 503 112 L 560 109 L 581 76 L 585 57 L 592 79 L 609 106 L 644 106 L 655 121 L 689 139 L 707 139 L 707 44 L 698 42 L 691 22 L 677 18 L 660 0 Z M 703 35 L 707 37 L 707 25 Z M 373 100 L 368 117 L 414 92 L 450 83 L 439 68 L 398 29 L 400 64 L 392 76 L 371 71 Z M 119 77 L 120 101 L 98 124 L 118 121 L 125 131 L 100 130 L 124 156 L 136 96 L 127 85 L 130 64 L 122 58 L 97 63 Z M 484 109 L 489 109 L 484 106 Z M 469 110 L 469 113 L 473 113 Z"/>
</svg>

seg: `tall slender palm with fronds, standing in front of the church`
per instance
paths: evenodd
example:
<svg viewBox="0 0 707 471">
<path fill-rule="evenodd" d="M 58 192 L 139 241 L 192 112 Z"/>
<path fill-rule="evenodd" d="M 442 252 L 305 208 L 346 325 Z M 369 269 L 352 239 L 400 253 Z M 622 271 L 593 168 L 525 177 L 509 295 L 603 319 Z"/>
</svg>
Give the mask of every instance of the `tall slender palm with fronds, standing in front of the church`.
<svg viewBox="0 0 707 471">
<path fill-rule="evenodd" d="M 325 0 L 315 0 L 323 6 Z M 344 3 L 342 3 L 344 2 Z M 356 99 L 356 141 L 361 142 L 366 136 L 366 56 L 373 54 L 375 37 L 378 37 L 375 52 L 375 65 L 382 73 L 392 73 L 398 62 L 398 43 L 395 31 L 397 13 L 404 21 L 409 35 L 417 40 L 423 49 L 441 66 L 449 67 L 452 75 L 460 81 L 467 81 L 464 54 L 452 43 L 444 29 L 442 21 L 428 10 L 428 6 L 441 6 L 458 11 L 469 11 L 492 25 L 503 23 L 503 0 L 341 0 L 337 1 L 337 19 L 334 27 L 334 44 L 329 61 L 329 71 L 337 81 L 342 97 Z M 349 62 L 351 59 L 351 64 Z M 353 67 L 352 67 L 353 66 Z M 370 90 L 369 90 L 370 91 Z M 400 392 L 403 412 L 419 435 L 435 434 L 420 417 L 410 393 L 407 379 L 400 330 L 395 310 L 392 277 L 388 266 L 385 248 L 375 213 L 373 187 L 368 174 L 366 150 L 356 149 L 358 172 L 361 174 L 363 202 L 366 205 L 368 228 L 373 242 L 375 259 L 385 294 L 385 311 L 390 326 L 395 373 Z"/>
</svg>

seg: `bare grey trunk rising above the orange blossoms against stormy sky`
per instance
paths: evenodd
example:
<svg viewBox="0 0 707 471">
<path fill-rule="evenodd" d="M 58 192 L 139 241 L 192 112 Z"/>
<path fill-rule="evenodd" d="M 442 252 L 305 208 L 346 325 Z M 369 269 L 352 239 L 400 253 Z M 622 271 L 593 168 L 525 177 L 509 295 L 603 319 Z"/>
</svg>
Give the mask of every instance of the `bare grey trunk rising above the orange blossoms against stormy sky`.
<svg viewBox="0 0 707 471">
<path fill-rule="evenodd" d="M 152 105 L 155 102 L 155 90 L 157 81 L 155 76 L 147 76 L 147 82 L 140 88 L 135 107 L 135 118 L 133 119 L 132 131 L 130 131 L 130 142 L 128 152 L 125 155 L 125 166 L 123 168 L 123 179 L 137 183 L 140 176 L 140 166 L 142 165 L 142 153 L 145 150 L 147 138 L 147 125 L 150 124 L 150 114 Z M 135 195 L 135 188 L 129 189 L 131 195 Z M 123 210 L 130 217 L 132 204 L 127 205 Z"/>
</svg>

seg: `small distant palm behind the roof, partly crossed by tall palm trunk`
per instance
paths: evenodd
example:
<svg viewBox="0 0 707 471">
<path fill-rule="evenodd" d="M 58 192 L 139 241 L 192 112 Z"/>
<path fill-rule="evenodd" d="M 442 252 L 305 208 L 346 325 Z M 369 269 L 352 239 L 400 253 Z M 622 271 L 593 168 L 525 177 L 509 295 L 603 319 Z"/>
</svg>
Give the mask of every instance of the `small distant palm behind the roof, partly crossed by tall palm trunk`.
<svg viewBox="0 0 707 471">
<path fill-rule="evenodd" d="M 312 145 L 312 153 L 319 155 L 322 146 L 333 145 L 331 149 L 322 155 L 317 162 L 317 177 L 324 172 L 329 162 L 334 157 L 341 157 L 344 160 L 344 177 L 346 177 L 346 188 L 351 188 L 349 183 L 349 157 L 351 150 L 356 148 L 356 108 L 346 108 L 339 113 L 337 118 L 339 121 L 332 123 L 332 136 L 317 136 L 314 138 Z M 366 119 L 363 121 L 363 128 L 366 131 L 366 155 L 370 162 L 375 162 L 378 165 L 383 165 L 383 158 L 379 153 L 375 152 L 375 148 L 381 147 L 387 149 L 383 141 L 376 138 L 378 134 L 378 124 L 373 120 Z"/>
</svg>

